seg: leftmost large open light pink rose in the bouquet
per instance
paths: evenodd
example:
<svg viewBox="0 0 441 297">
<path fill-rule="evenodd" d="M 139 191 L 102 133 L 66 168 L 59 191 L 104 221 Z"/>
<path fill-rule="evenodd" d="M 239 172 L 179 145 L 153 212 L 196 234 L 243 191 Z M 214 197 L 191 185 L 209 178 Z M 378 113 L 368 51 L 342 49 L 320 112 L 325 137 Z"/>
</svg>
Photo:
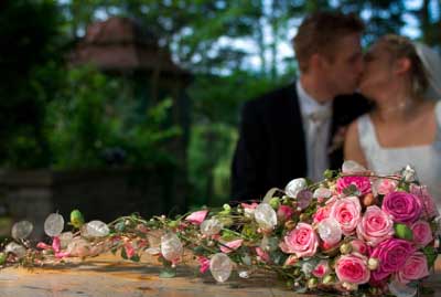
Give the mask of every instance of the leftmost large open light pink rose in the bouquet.
<svg viewBox="0 0 441 297">
<path fill-rule="evenodd" d="M 279 244 L 282 252 L 298 257 L 311 257 L 319 246 L 319 237 L 310 224 L 298 223 L 295 229 Z"/>
</svg>

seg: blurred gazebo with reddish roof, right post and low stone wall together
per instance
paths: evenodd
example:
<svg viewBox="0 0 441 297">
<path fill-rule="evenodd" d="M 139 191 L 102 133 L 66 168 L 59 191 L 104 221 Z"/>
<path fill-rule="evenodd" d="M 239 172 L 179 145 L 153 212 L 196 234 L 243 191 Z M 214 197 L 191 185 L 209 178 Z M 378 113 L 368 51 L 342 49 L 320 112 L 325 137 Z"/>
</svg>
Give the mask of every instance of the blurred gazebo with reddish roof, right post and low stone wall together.
<svg viewBox="0 0 441 297">
<path fill-rule="evenodd" d="M 68 218 L 73 208 L 82 209 L 90 220 L 104 221 L 131 212 L 152 215 L 186 208 L 190 104 L 185 87 L 191 74 L 173 63 L 170 52 L 158 45 L 153 34 L 127 18 L 110 18 L 88 26 L 69 56 L 69 65 L 84 64 L 121 77 L 133 88 L 132 99 L 147 108 L 164 98 L 173 99 L 168 125 L 176 125 L 182 131 L 170 144 L 180 166 L 0 172 L 0 190 L 12 219 L 34 222 L 36 237 L 43 236 L 42 225 L 49 213 L 60 212 Z"/>
</svg>

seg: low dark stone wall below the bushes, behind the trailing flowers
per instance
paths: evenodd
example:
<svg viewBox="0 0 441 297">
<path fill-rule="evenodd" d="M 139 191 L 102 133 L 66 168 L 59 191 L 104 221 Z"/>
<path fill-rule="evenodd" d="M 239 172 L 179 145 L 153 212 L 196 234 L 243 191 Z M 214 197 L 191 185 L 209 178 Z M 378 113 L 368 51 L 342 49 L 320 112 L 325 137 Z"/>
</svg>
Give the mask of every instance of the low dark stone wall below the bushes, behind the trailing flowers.
<svg viewBox="0 0 441 297">
<path fill-rule="evenodd" d="M 86 221 L 110 222 L 133 212 L 144 218 L 185 211 L 185 185 L 170 169 L 111 169 L 95 171 L 8 171 L 0 173 L 10 214 L 14 221 L 34 223 L 35 238 L 51 212 L 67 221 L 79 209 Z"/>
</svg>

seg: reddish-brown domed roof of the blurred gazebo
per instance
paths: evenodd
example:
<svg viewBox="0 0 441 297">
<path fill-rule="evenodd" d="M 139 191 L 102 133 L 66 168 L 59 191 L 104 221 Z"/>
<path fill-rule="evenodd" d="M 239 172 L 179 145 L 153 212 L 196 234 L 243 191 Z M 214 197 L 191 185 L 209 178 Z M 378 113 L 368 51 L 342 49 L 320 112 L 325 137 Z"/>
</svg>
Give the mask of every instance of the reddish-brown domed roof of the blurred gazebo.
<svg viewBox="0 0 441 297">
<path fill-rule="evenodd" d="M 87 28 L 72 54 L 74 65 L 92 63 L 105 71 L 159 71 L 162 74 L 190 76 L 173 63 L 170 52 L 158 39 L 133 20 L 112 17 Z"/>
</svg>

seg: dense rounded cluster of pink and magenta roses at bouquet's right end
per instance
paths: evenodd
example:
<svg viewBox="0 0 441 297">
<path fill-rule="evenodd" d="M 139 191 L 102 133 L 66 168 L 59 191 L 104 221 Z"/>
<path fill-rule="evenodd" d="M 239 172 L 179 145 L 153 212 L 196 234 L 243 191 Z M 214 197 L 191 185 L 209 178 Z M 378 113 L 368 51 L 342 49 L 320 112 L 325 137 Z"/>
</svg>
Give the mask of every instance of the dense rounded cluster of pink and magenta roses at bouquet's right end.
<svg viewBox="0 0 441 297">
<path fill-rule="evenodd" d="M 311 203 L 311 218 L 286 231 L 280 250 L 294 265 L 319 259 L 312 275 L 324 285 L 334 277 L 340 290 L 369 284 L 389 294 L 390 282 L 406 286 L 427 277 L 433 263 L 423 248 L 434 246 L 432 223 L 439 213 L 426 187 L 400 188 L 399 178 L 338 178 L 329 198 Z M 331 258 L 319 258 L 323 253 L 334 257 L 333 266 Z"/>
</svg>

